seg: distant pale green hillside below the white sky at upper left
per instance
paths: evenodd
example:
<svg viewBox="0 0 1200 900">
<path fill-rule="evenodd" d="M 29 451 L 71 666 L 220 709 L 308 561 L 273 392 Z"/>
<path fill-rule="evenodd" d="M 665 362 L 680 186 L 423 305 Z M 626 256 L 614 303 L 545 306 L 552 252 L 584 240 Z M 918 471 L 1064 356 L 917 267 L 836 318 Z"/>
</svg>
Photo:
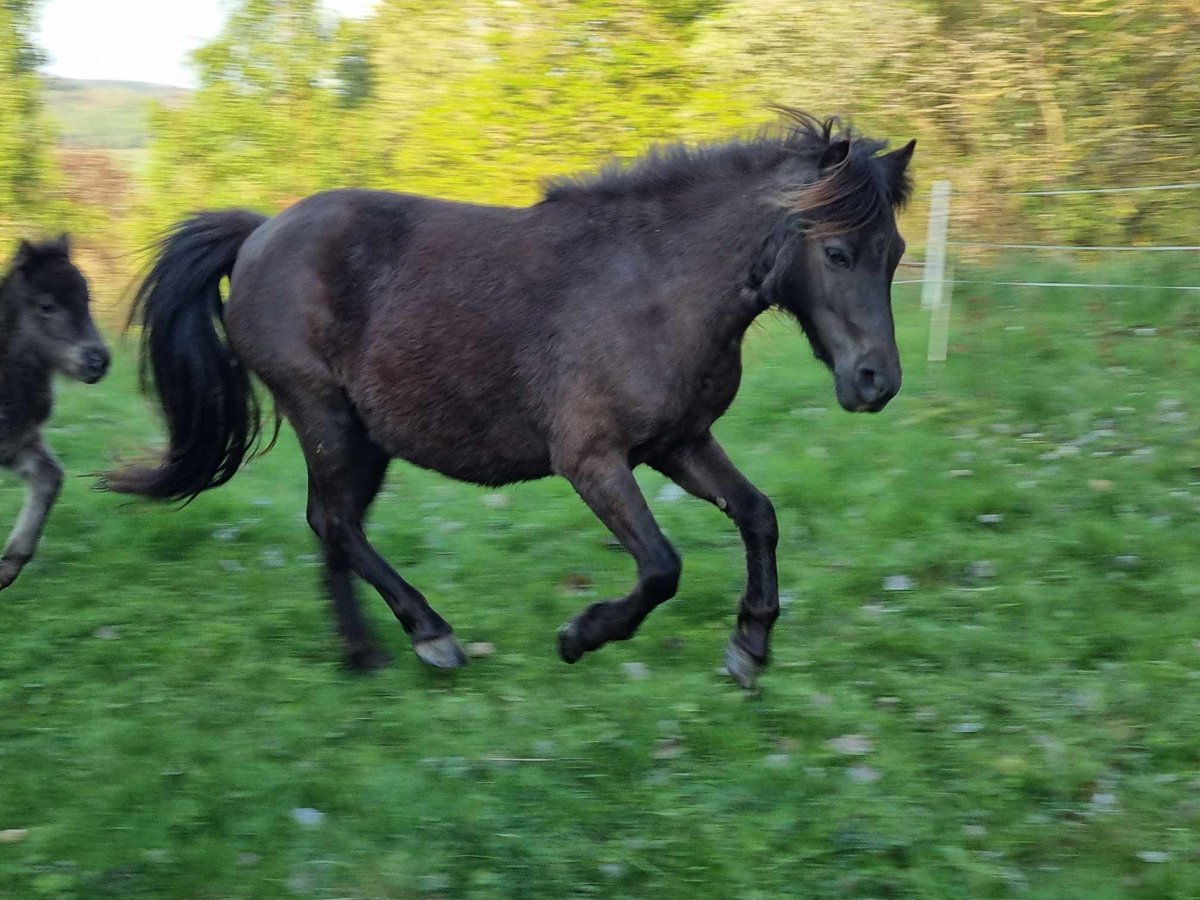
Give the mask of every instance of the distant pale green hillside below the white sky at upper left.
<svg viewBox="0 0 1200 900">
<path fill-rule="evenodd" d="M 47 78 L 46 102 L 71 148 L 138 150 L 149 139 L 151 103 L 181 103 L 188 91 L 143 82 Z"/>
</svg>

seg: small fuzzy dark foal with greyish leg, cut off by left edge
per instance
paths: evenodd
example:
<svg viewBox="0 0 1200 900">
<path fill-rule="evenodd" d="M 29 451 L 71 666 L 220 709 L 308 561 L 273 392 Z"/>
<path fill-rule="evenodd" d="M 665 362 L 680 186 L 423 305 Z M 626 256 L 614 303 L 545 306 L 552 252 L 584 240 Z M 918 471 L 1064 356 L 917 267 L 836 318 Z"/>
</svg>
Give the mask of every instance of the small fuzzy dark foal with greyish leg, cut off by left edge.
<svg viewBox="0 0 1200 900">
<path fill-rule="evenodd" d="M 0 281 L 0 466 L 20 475 L 25 504 L 0 556 L 0 590 L 34 556 L 62 487 L 62 468 L 42 439 L 62 372 L 86 384 L 108 371 L 108 350 L 88 311 L 88 282 L 71 263 L 66 235 L 22 241 Z"/>
</svg>

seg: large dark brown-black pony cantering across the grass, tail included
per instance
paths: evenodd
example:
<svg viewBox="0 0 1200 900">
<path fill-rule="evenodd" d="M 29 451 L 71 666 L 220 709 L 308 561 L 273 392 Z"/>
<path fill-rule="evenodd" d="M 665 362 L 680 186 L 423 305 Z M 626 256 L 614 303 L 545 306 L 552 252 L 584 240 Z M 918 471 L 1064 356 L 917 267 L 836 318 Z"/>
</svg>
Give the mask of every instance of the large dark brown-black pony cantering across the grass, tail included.
<svg viewBox="0 0 1200 900">
<path fill-rule="evenodd" d="M 164 499 L 224 484 L 258 437 L 257 374 L 304 449 L 352 664 L 382 661 L 354 572 L 425 662 L 460 666 L 450 625 L 364 534 L 389 460 L 482 485 L 562 475 L 637 562 L 628 596 L 559 631 L 574 662 L 676 593 L 679 556 L 634 479 L 648 463 L 742 532 L 727 662 L 750 684 L 779 614 L 775 514 L 709 428 L 737 394 L 746 328 L 772 306 L 799 319 L 846 409 L 882 409 L 900 389 L 894 209 L 913 145 L 884 146 L 791 112 L 780 133 L 655 151 L 526 209 L 332 191 L 272 220 L 198 214 L 163 240 L 136 311 L 170 446 L 109 484 Z"/>
</svg>

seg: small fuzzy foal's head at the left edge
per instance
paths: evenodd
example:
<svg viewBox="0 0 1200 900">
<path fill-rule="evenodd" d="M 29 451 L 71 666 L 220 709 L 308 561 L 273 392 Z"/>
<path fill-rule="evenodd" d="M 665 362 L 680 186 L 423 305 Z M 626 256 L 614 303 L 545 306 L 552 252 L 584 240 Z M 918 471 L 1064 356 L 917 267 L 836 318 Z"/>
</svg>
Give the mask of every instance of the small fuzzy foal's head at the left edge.
<svg viewBox="0 0 1200 900">
<path fill-rule="evenodd" d="M 28 352 L 80 382 L 108 371 L 108 348 L 88 308 L 88 282 L 71 262 L 66 235 L 43 244 L 22 241 L 4 282 L 11 328 Z"/>
</svg>

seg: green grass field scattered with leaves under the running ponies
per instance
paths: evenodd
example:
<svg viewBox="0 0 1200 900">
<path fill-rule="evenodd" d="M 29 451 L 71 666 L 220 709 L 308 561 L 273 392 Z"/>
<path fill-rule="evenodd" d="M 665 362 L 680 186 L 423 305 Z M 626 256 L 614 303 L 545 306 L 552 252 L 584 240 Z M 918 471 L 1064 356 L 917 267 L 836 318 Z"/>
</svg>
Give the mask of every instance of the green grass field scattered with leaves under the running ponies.
<svg viewBox="0 0 1200 900">
<path fill-rule="evenodd" d="M 751 334 L 718 434 L 784 535 L 752 695 L 718 672 L 736 532 L 653 473 L 680 594 L 568 667 L 556 628 L 632 577 L 602 527 L 396 463 L 373 540 L 496 650 L 425 670 L 364 592 L 365 678 L 290 432 L 184 510 L 68 479 L 0 595 L 0 895 L 1200 896 L 1200 296 L 960 287 L 929 366 L 917 290 L 878 416 Z M 131 352 L 61 386 L 71 474 L 157 439 Z"/>
</svg>

